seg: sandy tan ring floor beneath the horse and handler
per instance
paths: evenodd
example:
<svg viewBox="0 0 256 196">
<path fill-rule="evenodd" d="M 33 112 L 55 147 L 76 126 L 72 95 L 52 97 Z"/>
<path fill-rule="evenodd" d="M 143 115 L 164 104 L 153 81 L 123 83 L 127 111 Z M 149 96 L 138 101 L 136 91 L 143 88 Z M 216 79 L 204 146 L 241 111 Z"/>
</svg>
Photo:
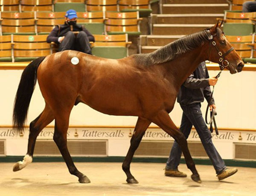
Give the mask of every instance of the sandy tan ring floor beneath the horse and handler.
<svg viewBox="0 0 256 196">
<path fill-rule="evenodd" d="M 251 196 L 256 192 L 256 168 L 238 167 L 234 176 L 218 181 L 210 165 L 197 165 L 202 184 L 193 182 L 185 164 L 180 170 L 189 177 L 164 176 L 161 163 L 132 163 L 139 184 L 127 184 L 122 163 L 75 163 L 90 179 L 80 184 L 64 162 L 32 163 L 12 172 L 13 163 L 0 163 L 1 196 Z"/>
</svg>

